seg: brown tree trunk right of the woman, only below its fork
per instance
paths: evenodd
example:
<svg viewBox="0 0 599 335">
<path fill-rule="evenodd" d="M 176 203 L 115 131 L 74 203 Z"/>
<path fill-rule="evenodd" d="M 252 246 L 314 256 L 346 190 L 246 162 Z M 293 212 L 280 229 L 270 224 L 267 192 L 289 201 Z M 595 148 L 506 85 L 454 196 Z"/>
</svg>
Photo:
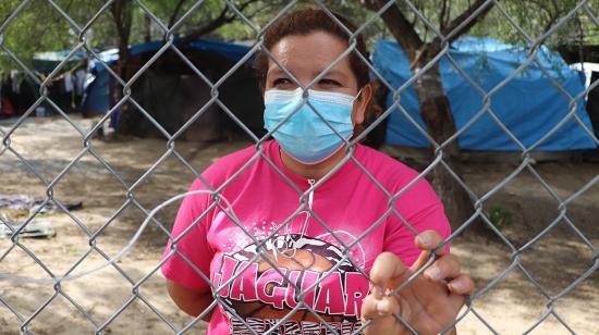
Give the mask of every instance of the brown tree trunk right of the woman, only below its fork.
<svg viewBox="0 0 599 335">
<path fill-rule="evenodd" d="M 419 63 L 424 66 L 427 62 L 428 60 L 421 60 Z M 414 72 L 417 72 L 420 65 L 415 66 Z M 456 127 L 438 64 L 424 73 L 415 82 L 415 89 L 420 107 L 420 115 L 428 127 L 428 134 L 438 144 L 444 142 L 455 134 Z M 443 161 L 461 177 L 457 139 L 444 147 L 442 153 Z M 474 213 L 472 199 L 445 166 L 441 164 L 437 165 L 430 176 L 432 177 L 432 187 L 445 204 L 445 213 L 450 220 L 452 231 L 455 231 Z M 468 231 L 472 229 L 468 228 Z"/>
</svg>

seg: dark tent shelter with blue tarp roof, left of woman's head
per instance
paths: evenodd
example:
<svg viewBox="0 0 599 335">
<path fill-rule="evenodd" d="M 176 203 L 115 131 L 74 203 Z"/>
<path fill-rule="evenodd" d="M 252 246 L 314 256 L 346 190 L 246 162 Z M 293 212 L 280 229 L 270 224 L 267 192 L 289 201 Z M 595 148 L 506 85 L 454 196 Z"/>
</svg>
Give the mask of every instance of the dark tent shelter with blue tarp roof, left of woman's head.
<svg viewBox="0 0 599 335">
<path fill-rule="evenodd" d="M 176 45 L 179 41 L 175 40 Z M 132 46 L 131 69 L 138 71 L 163 46 L 162 41 L 152 41 Z M 183 50 L 190 61 L 211 82 L 218 82 L 248 51 L 246 46 L 196 40 Z M 114 64 L 118 51 L 108 50 L 100 54 L 107 64 Z M 85 109 L 87 113 L 106 113 L 110 109 L 111 85 L 117 82 L 100 62 L 95 64 L 96 79 L 87 89 Z M 132 97 L 167 132 L 174 134 L 185 122 L 211 98 L 211 88 L 173 51 L 167 51 L 132 86 Z M 219 99 L 254 133 L 262 129 L 262 101 L 255 75 L 247 65 L 239 67 L 219 87 Z M 130 111 L 133 113 L 129 113 Z M 136 108 L 127 111 L 127 120 L 119 117 L 115 127 L 136 136 L 161 136 L 161 132 Z M 124 116 L 124 115 L 123 115 Z M 133 119 L 132 119 L 133 116 Z M 185 132 L 184 138 L 191 140 L 215 140 L 239 132 L 221 107 L 211 104 L 200 117 Z"/>
</svg>

